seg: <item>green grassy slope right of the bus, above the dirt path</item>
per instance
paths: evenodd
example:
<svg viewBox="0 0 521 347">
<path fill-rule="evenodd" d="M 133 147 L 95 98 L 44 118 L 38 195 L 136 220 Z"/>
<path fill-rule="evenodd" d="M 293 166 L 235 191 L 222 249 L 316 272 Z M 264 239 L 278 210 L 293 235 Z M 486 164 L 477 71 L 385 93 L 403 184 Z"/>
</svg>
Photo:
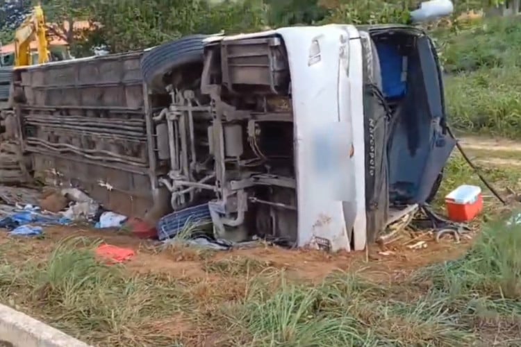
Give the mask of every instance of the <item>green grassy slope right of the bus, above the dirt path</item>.
<svg viewBox="0 0 521 347">
<path fill-rule="evenodd" d="M 521 138 L 521 19 L 488 19 L 437 36 L 450 124 Z"/>
</svg>

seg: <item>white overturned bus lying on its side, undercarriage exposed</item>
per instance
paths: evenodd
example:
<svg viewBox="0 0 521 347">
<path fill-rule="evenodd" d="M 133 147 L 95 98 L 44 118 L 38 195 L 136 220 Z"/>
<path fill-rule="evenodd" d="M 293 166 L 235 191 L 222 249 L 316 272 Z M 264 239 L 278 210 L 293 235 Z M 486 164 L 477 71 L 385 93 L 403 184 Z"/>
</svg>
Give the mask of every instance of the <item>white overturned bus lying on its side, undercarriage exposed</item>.
<svg viewBox="0 0 521 347">
<path fill-rule="evenodd" d="M 14 90 L 33 176 L 150 223 L 203 206 L 234 240 L 363 249 L 433 198 L 455 144 L 412 26 L 194 35 L 17 69 Z"/>
</svg>

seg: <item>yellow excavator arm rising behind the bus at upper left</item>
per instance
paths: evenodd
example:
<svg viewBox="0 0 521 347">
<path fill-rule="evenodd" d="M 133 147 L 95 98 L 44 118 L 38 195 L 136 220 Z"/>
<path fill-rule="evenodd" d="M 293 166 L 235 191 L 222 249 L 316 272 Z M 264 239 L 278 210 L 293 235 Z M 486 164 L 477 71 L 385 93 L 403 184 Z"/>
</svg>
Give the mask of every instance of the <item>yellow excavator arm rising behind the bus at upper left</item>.
<svg viewBox="0 0 521 347">
<path fill-rule="evenodd" d="M 32 65 L 31 41 L 38 42 L 38 64 L 49 62 L 49 47 L 42 6 L 35 6 L 15 33 L 15 66 Z"/>
</svg>

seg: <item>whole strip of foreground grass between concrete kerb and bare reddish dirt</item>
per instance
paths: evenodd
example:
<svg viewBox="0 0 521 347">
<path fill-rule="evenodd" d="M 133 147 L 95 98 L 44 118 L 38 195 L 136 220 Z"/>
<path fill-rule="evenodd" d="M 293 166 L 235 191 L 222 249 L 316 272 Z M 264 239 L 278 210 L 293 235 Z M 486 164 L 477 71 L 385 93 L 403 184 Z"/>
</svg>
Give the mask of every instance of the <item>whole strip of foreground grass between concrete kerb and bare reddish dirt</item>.
<svg viewBox="0 0 521 347">
<path fill-rule="evenodd" d="M 208 277 L 221 280 L 199 291 L 190 278 L 107 266 L 94 257 L 96 243 L 67 239 L 39 264 L 13 272 L 3 262 L 0 292 L 102 346 L 195 346 L 210 337 L 215 346 L 517 346 L 520 244 L 521 226 L 490 223 L 465 257 L 392 283 L 338 272 L 313 285 L 232 257 L 207 264 Z"/>
</svg>

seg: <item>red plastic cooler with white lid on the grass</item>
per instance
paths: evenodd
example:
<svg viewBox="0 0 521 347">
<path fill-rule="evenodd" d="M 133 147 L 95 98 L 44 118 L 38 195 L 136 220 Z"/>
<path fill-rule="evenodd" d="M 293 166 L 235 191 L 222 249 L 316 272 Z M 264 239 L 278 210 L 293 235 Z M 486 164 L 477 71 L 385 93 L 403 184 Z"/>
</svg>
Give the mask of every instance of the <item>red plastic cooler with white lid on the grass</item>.
<svg viewBox="0 0 521 347">
<path fill-rule="evenodd" d="M 445 196 L 445 207 L 452 221 L 471 221 L 483 210 L 481 188 L 475 185 L 460 185 Z"/>
</svg>

